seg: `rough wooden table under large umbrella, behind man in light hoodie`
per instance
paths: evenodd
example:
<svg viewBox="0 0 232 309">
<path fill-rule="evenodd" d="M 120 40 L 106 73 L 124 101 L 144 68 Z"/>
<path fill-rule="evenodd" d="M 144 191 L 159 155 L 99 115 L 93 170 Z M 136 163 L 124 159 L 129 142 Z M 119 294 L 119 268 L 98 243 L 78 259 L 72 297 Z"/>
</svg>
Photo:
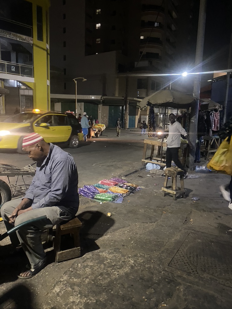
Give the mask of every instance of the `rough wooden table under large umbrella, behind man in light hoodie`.
<svg viewBox="0 0 232 309">
<path fill-rule="evenodd" d="M 151 154 L 149 157 L 146 156 L 148 145 L 152 145 Z M 180 150 L 179 150 L 179 159 L 184 166 L 186 164 L 186 158 L 187 158 L 187 145 L 188 144 L 186 142 L 181 142 Z M 153 155 L 154 155 L 155 146 L 158 147 L 158 151 L 157 151 L 157 155 L 154 157 Z M 162 155 L 162 158 L 161 158 L 161 147 L 167 148 L 167 142 L 162 142 L 160 138 L 144 139 L 144 152 L 143 152 L 143 158 L 142 158 L 142 165 L 144 166 L 146 163 L 157 163 L 160 166 L 165 166 L 166 158 L 164 154 Z M 158 162 L 154 162 L 152 160 L 156 160 Z"/>
</svg>

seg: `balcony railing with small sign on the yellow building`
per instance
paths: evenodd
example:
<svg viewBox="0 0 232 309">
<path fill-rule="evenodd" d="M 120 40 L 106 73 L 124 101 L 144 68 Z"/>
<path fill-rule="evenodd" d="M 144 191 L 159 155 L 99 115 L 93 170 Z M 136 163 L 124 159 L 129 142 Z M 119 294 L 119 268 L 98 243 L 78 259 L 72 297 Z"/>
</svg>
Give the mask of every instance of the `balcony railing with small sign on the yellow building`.
<svg viewBox="0 0 232 309">
<path fill-rule="evenodd" d="M 0 60 L 0 73 L 34 77 L 33 66 Z"/>
</svg>

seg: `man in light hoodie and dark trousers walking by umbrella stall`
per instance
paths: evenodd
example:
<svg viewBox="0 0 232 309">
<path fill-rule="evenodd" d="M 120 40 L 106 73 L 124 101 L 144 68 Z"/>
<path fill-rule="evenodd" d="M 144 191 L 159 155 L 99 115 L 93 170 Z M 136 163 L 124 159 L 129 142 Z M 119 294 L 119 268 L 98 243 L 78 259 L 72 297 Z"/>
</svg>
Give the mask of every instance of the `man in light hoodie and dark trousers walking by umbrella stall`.
<svg viewBox="0 0 232 309">
<path fill-rule="evenodd" d="M 194 146 L 191 144 L 187 132 L 182 127 L 182 125 L 176 121 L 176 116 L 174 114 L 169 115 L 169 132 L 167 137 L 167 150 L 166 150 L 166 167 L 171 167 L 172 160 L 176 164 L 177 167 L 182 169 L 184 171 L 184 176 L 187 176 L 187 171 L 184 168 L 183 164 L 180 162 L 178 157 L 178 150 L 180 148 L 180 136 L 181 134 L 187 139 L 188 144 L 191 149 L 194 148 Z M 165 177 L 165 174 L 162 175 L 162 177 Z"/>
</svg>

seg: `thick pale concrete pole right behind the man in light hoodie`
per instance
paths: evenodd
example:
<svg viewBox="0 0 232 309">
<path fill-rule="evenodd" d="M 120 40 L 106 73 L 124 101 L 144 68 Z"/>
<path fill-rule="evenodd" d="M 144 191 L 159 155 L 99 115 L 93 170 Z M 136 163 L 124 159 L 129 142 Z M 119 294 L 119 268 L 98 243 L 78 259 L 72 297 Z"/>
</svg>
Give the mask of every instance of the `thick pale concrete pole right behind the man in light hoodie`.
<svg viewBox="0 0 232 309">
<path fill-rule="evenodd" d="M 203 49 L 204 49 L 204 31 L 206 19 L 206 2 L 207 0 L 200 0 L 197 41 L 196 41 L 196 55 L 195 55 L 195 69 L 198 72 L 202 70 Z M 197 122 L 199 112 L 199 99 L 200 99 L 200 82 L 201 74 L 197 74 L 194 81 L 193 95 L 196 97 L 196 104 L 191 108 L 191 119 L 189 125 L 189 138 L 191 143 L 195 146 L 193 150 L 189 150 L 189 169 L 192 171 L 194 168 L 196 138 L 197 138 Z"/>
</svg>

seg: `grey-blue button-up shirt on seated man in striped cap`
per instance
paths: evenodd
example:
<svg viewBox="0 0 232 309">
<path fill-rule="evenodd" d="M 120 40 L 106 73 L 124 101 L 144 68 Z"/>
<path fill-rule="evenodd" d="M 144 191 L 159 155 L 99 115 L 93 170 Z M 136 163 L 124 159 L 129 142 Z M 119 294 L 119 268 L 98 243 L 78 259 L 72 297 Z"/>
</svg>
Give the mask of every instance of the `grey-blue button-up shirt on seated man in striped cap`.
<svg viewBox="0 0 232 309">
<path fill-rule="evenodd" d="M 79 208 L 78 173 L 73 157 L 50 143 L 48 156 L 37 163 L 36 174 L 26 191 L 32 209 L 58 206 L 69 215 Z"/>
</svg>

